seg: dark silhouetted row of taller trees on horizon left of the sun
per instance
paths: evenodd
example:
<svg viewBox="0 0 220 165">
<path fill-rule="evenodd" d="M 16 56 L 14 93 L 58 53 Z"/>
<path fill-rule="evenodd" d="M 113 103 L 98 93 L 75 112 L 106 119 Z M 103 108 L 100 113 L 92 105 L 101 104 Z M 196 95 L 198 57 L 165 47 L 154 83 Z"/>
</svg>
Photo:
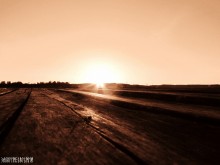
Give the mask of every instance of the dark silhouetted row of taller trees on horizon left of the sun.
<svg viewBox="0 0 220 165">
<path fill-rule="evenodd" d="M 38 83 L 22 83 L 21 81 L 1 81 L 0 88 L 72 88 L 76 87 L 74 84 L 69 82 L 60 81 L 49 81 L 49 82 L 38 82 Z"/>
</svg>

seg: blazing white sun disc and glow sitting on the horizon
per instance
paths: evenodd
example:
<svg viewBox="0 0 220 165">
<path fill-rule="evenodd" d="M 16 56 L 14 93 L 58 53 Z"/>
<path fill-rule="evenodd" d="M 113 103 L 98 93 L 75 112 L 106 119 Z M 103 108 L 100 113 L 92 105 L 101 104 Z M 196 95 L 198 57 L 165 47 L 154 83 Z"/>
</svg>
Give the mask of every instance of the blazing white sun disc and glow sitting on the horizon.
<svg viewBox="0 0 220 165">
<path fill-rule="evenodd" d="M 97 88 L 104 88 L 105 83 L 118 82 L 117 71 L 110 64 L 96 63 L 87 68 L 86 82 L 96 84 Z"/>
</svg>

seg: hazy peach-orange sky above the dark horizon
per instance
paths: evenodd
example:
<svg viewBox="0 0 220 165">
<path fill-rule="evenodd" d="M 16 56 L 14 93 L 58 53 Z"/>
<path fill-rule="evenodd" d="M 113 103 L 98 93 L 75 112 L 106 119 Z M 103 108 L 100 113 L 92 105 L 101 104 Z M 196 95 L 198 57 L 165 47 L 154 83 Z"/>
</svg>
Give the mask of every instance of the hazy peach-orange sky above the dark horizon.
<svg viewBox="0 0 220 165">
<path fill-rule="evenodd" d="M 107 81 L 220 83 L 220 1 L 0 0 L 0 81 L 106 68 Z"/>
</svg>

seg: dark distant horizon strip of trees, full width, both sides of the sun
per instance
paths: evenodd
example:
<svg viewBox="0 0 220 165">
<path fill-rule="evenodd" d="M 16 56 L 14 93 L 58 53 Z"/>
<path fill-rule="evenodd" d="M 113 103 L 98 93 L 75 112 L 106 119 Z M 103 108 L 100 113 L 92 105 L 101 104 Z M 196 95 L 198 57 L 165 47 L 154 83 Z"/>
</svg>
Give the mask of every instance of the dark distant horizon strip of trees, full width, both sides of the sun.
<svg viewBox="0 0 220 165">
<path fill-rule="evenodd" d="M 79 89 L 93 89 L 94 84 L 70 84 L 68 82 L 60 81 L 49 81 L 49 82 L 38 82 L 38 83 L 22 83 L 21 81 L 1 81 L 0 88 L 79 88 Z M 117 90 L 143 90 L 143 91 L 172 91 L 172 92 L 205 92 L 205 93 L 220 93 L 220 84 L 210 85 L 138 85 L 138 84 L 118 84 L 118 83 L 107 83 L 105 84 L 107 89 Z"/>
</svg>

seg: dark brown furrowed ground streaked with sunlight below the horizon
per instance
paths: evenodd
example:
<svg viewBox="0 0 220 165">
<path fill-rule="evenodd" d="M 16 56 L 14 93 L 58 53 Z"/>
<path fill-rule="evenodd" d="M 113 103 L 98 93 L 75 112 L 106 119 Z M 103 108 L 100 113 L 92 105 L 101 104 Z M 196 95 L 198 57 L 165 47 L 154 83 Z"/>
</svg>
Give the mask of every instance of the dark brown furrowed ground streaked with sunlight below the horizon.
<svg viewBox="0 0 220 165">
<path fill-rule="evenodd" d="M 220 164 L 220 93 L 0 89 L 0 157 L 33 157 L 33 164 Z"/>
</svg>

